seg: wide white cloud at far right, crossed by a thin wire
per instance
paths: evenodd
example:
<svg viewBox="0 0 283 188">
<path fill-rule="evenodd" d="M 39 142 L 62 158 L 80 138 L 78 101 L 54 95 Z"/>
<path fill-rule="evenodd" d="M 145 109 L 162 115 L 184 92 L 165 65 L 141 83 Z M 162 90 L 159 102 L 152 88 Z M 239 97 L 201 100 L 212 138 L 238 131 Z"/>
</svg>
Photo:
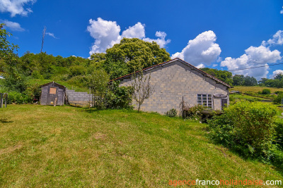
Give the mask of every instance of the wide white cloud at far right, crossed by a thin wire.
<svg viewBox="0 0 283 188">
<path fill-rule="evenodd" d="M 221 66 L 228 68 L 228 70 L 237 70 L 232 71 L 233 74 L 249 75 L 255 77 L 257 80 L 260 80 L 262 77 L 267 77 L 269 70 L 267 63 L 277 63 L 277 61 L 281 60 L 282 58 L 278 50 L 271 51 L 268 46 L 262 45 L 258 47 L 250 46 L 245 52 L 246 53 L 239 58 L 225 58 L 224 61 L 221 61 Z M 258 66 L 265 67 L 238 70 Z"/>
</svg>

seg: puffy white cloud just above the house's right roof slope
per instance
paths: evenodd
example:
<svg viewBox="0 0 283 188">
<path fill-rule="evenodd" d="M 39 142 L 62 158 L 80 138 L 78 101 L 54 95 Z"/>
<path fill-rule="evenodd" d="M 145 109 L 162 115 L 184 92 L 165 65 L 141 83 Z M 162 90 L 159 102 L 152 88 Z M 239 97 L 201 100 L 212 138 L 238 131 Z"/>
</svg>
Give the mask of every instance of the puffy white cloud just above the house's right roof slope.
<svg viewBox="0 0 283 188">
<path fill-rule="evenodd" d="M 192 65 L 210 65 L 219 58 L 221 49 L 216 44 L 216 35 L 212 30 L 202 32 L 190 40 L 181 51 L 173 54 L 172 58 L 181 58 Z"/>
</svg>

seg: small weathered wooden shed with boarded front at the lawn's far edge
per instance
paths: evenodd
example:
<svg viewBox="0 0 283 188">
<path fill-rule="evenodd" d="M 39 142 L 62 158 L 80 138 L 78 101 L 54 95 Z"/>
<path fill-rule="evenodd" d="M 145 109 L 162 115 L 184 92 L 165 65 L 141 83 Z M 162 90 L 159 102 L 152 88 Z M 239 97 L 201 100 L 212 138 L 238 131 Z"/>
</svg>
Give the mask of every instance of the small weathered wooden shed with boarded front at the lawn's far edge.
<svg viewBox="0 0 283 188">
<path fill-rule="evenodd" d="M 65 102 L 66 87 L 56 82 L 49 82 L 41 86 L 41 105 L 63 105 Z"/>
</svg>

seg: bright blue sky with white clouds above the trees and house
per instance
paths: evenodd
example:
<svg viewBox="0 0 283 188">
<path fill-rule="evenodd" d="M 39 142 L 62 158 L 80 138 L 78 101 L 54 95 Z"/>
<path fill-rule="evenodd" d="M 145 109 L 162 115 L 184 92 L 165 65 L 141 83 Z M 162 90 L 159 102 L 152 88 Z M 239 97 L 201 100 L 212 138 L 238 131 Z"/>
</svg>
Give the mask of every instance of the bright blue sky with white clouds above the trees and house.
<svg viewBox="0 0 283 188">
<path fill-rule="evenodd" d="M 104 52 L 122 37 L 156 41 L 172 57 L 198 67 L 235 70 L 282 63 L 283 1 L 35 1 L 0 0 L 0 22 L 19 56 Z M 257 77 L 283 65 L 235 71 Z"/>
</svg>

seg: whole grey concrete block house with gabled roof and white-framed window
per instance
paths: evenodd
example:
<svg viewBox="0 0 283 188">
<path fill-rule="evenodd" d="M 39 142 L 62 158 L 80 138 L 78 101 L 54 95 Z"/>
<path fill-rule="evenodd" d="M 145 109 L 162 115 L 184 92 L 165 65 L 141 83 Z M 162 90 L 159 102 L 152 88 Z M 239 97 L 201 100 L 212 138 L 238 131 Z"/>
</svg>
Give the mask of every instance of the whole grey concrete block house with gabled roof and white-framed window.
<svg viewBox="0 0 283 188">
<path fill-rule="evenodd" d="M 141 111 L 164 114 L 172 108 L 180 112 L 183 106 L 190 108 L 197 104 L 221 110 L 229 104 L 229 84 L 180 58 L 145 68 L 143 73 L 145 77 L 151 75 L 150 84 L 154 86 L 154 92 L 144 100 Z M 129 86 L 132 74 L 115 80 L 120 80 L 120 86 Z"/>
</svg>

